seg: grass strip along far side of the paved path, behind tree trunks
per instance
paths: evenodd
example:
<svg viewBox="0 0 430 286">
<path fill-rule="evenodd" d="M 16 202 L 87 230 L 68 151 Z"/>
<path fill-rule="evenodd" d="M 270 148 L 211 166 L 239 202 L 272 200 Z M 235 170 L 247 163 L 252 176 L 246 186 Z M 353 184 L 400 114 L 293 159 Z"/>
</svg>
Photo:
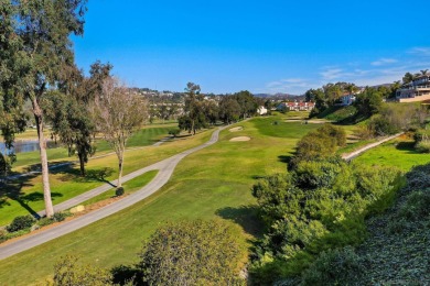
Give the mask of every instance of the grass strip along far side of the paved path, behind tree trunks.
<svg viewBox="0 0 430 286">
<path fill-rule="evenodd" d="M 161 146 L 147 146 L 140 150 L 126 152 L 123 173 L 148 166 L 173 154 L 185 151 L 190 147 L 202 144 L 211 136 L 211 132 L 202 132 L 193 138 L 184 138 L 176 142 L 166 142 Z M 150 140 L 150 139 L 148 139 Z M 95 174 L 104 167 L 114 169 L 107 179 L 117 178 L 117 157 L 95 158 L 88 162 L 88 174 Z M 94 176 L 82 178 L 78 175 L 77 166 L 65 167 L 51 172 L 50 183 L 54 204 L 60 204 L 103 183 Z M 66 184 L 65 184 L 66 183 Z M 8 184 L 0 188 L 0 226 L 12 221 L 17 216 L 28 215 L 30 211 L 40 211 L 44 208 L 41 177 L 25 177 L 15 183 Z"/>
</svg>

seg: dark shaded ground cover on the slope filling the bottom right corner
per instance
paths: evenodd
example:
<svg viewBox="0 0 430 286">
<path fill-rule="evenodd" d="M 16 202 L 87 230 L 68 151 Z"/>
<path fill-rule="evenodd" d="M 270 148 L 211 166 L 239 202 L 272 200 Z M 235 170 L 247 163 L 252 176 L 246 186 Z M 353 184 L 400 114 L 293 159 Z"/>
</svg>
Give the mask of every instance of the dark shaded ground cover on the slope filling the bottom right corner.
<svg viewBox="0 0 430 286">
<path fill-rule="evenodd" d="M 406 174 L 395 204 L 366 221 L 356 249 L 321 253 L 295 279 L 280 285 L 426 285 L 430 279 L 430 164 Z"/>
</svg>

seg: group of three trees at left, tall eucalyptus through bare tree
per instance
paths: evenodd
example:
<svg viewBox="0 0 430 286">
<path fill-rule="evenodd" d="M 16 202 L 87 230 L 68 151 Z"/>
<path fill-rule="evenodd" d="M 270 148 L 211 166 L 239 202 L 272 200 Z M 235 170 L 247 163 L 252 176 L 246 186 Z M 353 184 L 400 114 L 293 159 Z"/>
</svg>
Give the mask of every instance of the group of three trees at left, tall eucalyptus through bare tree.
<svg viewBox="0 0 430 286">
<path fill-rule="evenodd" d="M 127 139 L 146 114 L 146 105 L 110 76 L 109 64 L 96 62 L 85 77 L 74 63 L 71 35 L 84 32 L 85 0 L 0 0 L 0 129 L 8 147 L 25 129 L 31 102 L 37 130 L 46 216 L 54 213 L 49 179 L 44 125 L 77 154 L 80 172 L 94 154 L 101 132 L 116 151 L 119 177 Z M 4 169 L 14 154 L 2 156 Z M 120 186 L 120 178 L 118 179 Z"/>
</svg>

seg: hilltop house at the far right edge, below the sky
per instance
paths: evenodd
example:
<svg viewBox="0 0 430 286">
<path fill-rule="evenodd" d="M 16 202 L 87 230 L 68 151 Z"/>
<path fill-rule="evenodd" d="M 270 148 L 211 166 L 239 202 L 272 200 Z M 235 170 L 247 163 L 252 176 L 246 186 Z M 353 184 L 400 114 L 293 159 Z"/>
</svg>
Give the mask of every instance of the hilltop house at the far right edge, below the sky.
<svg viewBox="0 0 430 286">
<path fill-rule="evenodd" d="M 430 100 L 430 75 L 421 75 L 404 85 L 396 91 L 396 100 L 399 102 Z"/>
</svg>

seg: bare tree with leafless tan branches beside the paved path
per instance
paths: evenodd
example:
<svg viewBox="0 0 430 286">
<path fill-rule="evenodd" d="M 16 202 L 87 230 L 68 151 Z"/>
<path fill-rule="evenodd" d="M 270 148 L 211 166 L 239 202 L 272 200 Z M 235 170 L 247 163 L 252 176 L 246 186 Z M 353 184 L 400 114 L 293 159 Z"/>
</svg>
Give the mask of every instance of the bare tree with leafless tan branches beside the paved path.
<svg viewBox="0 0 430 286">
<path fill-rule="evenodd" d="M 147 102 L 133 96 L 118 79 L 105 79 L 101 92 L 94 101 L 94 116 L 98 131 L 118 157 L 118 184 L 121 187 L 123 155 L 127 140 L 148 118 Z"/>
</svg>

